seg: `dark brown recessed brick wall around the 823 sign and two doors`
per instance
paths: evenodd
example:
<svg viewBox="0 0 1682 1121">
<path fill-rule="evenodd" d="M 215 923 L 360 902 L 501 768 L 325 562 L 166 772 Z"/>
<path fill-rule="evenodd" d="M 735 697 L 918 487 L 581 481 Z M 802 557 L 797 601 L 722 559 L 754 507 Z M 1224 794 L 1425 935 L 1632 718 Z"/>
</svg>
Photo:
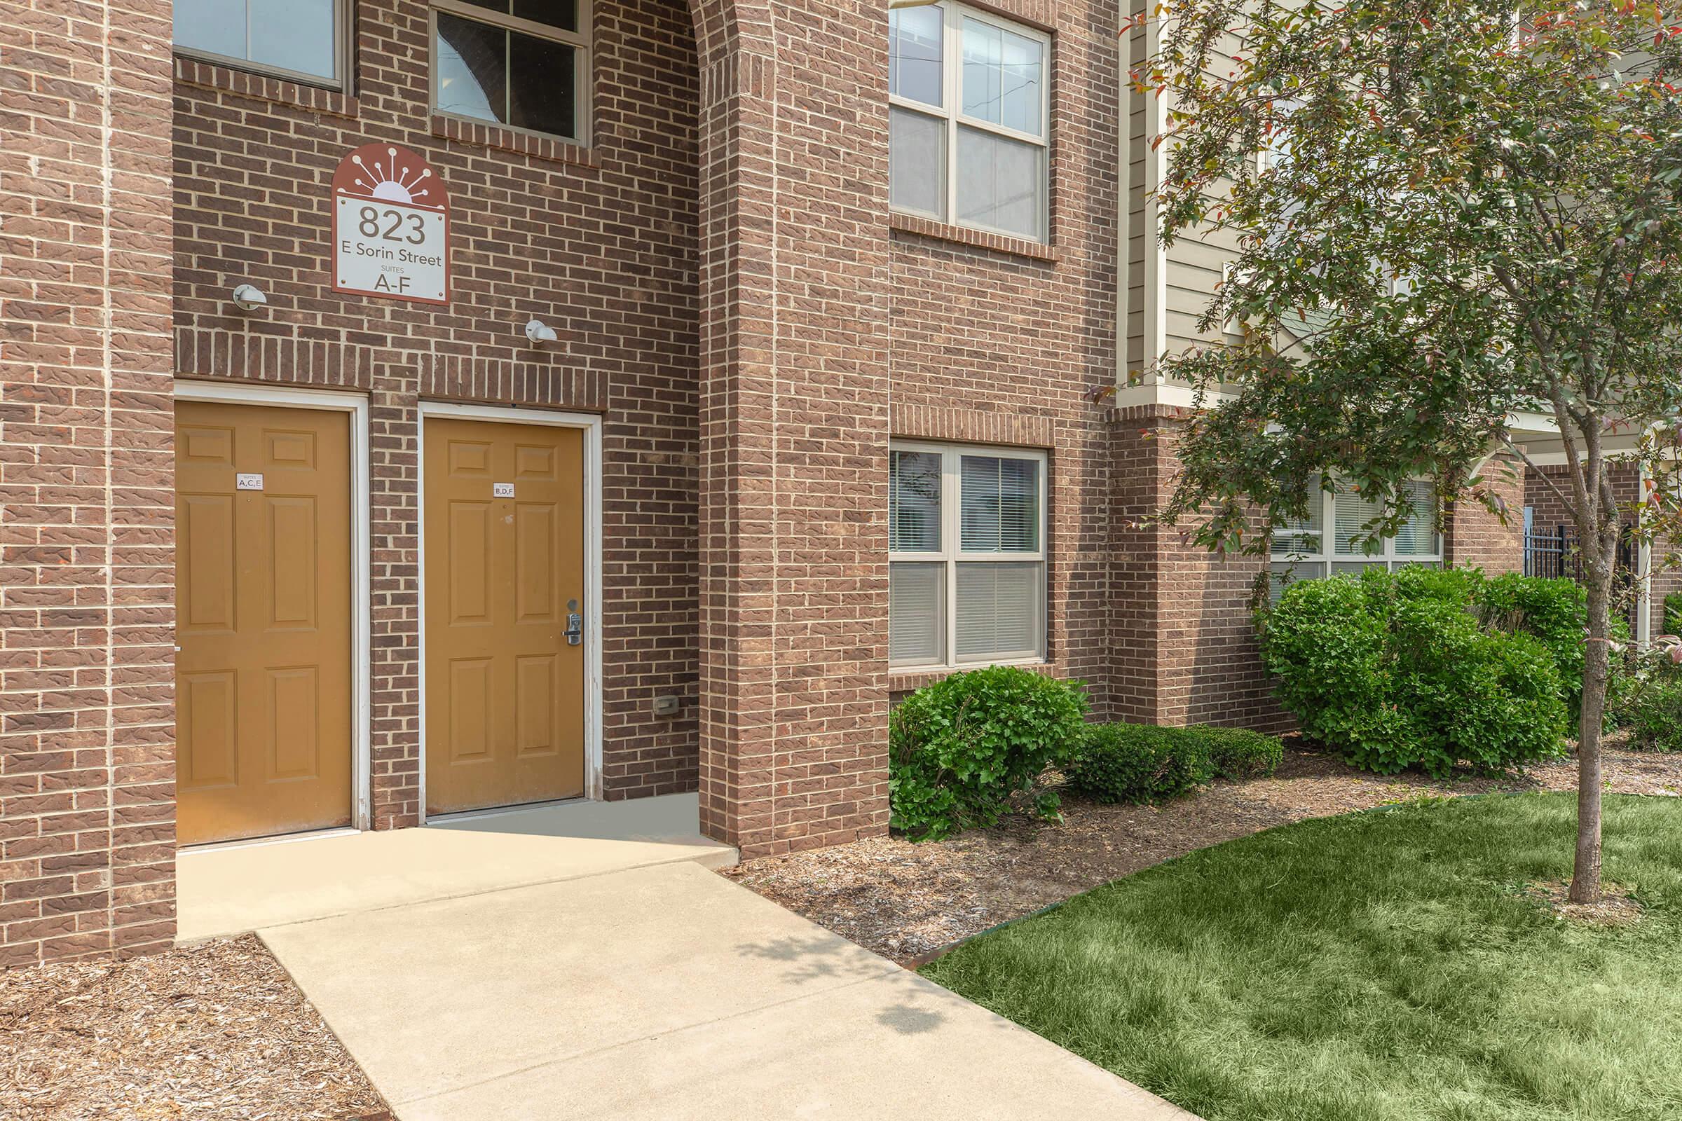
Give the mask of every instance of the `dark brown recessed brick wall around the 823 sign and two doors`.
<svg viewBox="0 0 1682 1121">
<path fill-rule="evenodd" d="M 177 62 L 185 376 L 370 395 L 373 817 L 419 815 L 417 400 L 604 410 L 604 792 L 696 782 L 696 61 L 686 7 L 594 5 L 589 150 L 429 111 L 427 5 L 357 3 L 352 96 Z M 447 308 L 328 291 L 328 180 L 382 141 L 452 210 Z M 242 314 L 242 282 L 269 296 Z M 558 339 L 521 334 L 540 318 Z M 680 694 L 676 718 L 654 696 Z"/>
</svg>

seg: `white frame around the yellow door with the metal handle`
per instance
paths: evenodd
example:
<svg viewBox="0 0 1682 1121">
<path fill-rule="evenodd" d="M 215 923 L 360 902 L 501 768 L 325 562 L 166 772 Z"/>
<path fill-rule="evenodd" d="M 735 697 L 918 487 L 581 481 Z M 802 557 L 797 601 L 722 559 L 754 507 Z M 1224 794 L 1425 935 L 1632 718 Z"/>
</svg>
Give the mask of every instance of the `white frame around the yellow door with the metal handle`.
<svg viewBox="0 0 1682 1121">
<path fill-rule="evenodd" d="M 415 556 L 420 607 L 420 824 L 426 824 L 426 422 L 429 417 L 535 424 L 584 432 L 584 797 L 602 797 L 602 418 L 532 405 L 454 405 L 420 402 L 415 418 Z M 471 810 L 484 813 L 486 810 Z M 454 817 L 439 815 L 439 817 Z"/>
</svg>

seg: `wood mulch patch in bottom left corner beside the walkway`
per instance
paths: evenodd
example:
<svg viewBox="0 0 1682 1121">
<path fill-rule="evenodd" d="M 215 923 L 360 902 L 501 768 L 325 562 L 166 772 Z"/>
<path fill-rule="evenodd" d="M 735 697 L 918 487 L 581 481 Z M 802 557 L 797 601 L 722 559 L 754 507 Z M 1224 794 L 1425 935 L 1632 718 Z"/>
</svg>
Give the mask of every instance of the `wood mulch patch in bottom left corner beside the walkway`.
<svg viewBox="0 0 1682 1121">
<path fill-rule="evenodd" d="M 392 1121 L 254 934 L 0 971 L 5 1121 Z"/>
</svg>

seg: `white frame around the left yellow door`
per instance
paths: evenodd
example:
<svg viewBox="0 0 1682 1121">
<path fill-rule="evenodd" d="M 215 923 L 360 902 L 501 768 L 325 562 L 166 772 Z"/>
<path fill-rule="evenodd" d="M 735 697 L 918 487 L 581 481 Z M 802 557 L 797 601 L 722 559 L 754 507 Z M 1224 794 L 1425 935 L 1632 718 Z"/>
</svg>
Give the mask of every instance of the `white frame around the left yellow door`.
<svg viewBox="0 0 1682 1121">
<path fill-rule="evenodd" d="M 192 382 L 177 378 L 175 400 L 267 405 L 271 408 L 320 408 L 323 412 L 350 413 L 350 824 L 355 829 L 368 829 L 373 681 L 368 655 L 373 603 L 368 588 L 368 398 L 362 393 L 345 390 L 301 390 L 242 382 Z M 284 840 L 298 835 L 303 834 L 281 834 L 274 839 L 262 837 L 256 840 Z"/>
</svg>

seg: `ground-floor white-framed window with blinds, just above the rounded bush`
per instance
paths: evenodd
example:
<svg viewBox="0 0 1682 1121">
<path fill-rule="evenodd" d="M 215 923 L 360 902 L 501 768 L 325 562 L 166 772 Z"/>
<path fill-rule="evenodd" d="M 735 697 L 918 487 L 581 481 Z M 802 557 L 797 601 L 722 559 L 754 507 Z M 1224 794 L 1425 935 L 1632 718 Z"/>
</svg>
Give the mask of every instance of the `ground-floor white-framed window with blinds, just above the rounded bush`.
<svg viewBox="0 0 1682 1121">
<path fill-rule="evenodd" d="M 888 664 L 1043 662 L 1046 455 L 888 449 Z"/>
</svg>

